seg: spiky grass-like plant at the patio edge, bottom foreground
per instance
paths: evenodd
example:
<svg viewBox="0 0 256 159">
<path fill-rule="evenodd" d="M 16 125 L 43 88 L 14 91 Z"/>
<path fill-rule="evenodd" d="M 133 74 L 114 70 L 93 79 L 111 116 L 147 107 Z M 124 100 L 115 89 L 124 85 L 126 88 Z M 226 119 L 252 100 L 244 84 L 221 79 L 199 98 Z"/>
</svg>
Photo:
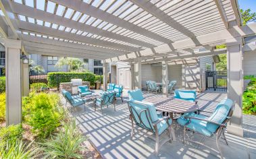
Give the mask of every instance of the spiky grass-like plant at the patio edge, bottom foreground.
<svg viewBox="0 0 256 159">
<path fill-rule="evenodd" d="M 45 158 L 83 158 L 81 152 L 84 149 L 84 141 L 86 137 L 81 135 L 75 120 L 72 120 L 63 123 L 63 129 L 41 146 Z"/>
</svg>

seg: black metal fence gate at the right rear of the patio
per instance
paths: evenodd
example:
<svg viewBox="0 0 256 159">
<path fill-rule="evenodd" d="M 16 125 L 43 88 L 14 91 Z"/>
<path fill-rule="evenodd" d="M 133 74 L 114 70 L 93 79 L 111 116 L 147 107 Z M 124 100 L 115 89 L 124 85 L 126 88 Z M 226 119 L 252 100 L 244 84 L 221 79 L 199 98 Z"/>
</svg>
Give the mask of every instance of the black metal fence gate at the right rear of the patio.
<svg viewBox="0 0 256 159">
<path fill-rule="evenodd" d="M 206 90 L 227 91 L 227 71 L 205 71 Z"/>
</svg>

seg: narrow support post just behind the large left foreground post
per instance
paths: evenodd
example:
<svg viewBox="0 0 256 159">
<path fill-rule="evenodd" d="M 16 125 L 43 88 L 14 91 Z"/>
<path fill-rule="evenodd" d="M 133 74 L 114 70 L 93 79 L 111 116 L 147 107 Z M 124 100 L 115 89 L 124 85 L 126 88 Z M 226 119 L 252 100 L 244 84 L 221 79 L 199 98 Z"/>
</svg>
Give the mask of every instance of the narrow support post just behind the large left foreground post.
<svg viewBox="0 0 256 159">
<path fill-rule="evenodd" d="M 28 64 L 22 64 L 22 96 L 29 94 L 29 68 Z"/>
</svg>

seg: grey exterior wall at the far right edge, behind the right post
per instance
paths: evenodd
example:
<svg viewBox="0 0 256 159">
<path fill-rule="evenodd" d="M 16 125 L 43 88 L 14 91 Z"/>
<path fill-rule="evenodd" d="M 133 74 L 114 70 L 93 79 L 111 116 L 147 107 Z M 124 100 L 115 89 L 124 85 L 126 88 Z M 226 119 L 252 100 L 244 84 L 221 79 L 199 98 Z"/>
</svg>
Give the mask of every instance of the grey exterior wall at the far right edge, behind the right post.
<svg viewBox="0 0 256 159">
<path fill-rule="evenodd" d="M 243 56 L 244 75 L 256 75 L 256 51 L 245 52 Z"/>
</svg>

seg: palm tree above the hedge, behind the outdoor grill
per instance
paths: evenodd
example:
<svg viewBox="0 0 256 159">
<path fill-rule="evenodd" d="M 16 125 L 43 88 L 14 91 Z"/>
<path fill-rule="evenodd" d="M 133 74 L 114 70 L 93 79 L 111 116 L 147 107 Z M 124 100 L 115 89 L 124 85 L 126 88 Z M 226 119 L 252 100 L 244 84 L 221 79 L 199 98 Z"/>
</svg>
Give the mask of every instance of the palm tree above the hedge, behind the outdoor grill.
<svg viewBox="0 0 256 159">
<path fill-rule="evenodd" d="M 71 58 L 71 57 L 66 57 L 66 58 L 61 58 L 55 66 L 61 68 L 63 65 L 68 65 L 68 69 L 70 71 L 84 71 L 84 63 L 77 58 Z"/>
</svg>

